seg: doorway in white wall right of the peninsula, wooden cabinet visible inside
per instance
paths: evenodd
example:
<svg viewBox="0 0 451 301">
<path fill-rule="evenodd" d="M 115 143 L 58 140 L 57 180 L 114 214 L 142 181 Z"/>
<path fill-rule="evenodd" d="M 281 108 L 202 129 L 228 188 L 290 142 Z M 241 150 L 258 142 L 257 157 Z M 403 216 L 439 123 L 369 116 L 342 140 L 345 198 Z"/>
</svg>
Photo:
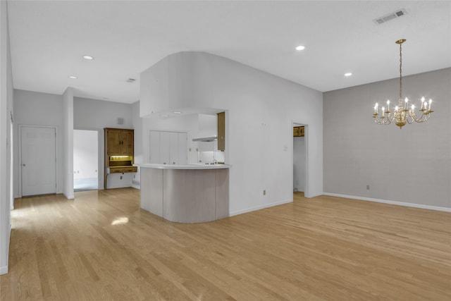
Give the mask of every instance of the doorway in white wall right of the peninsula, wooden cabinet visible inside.
<svg viewBox="0 0 451 301">
<path fill-rule="evenodd" d="M 307 137 L 308 127 L 302 123 L 292 123 L 293 129 L 301 127 L 301 135 L 293 135 L 293 192 L 304 192 L 308 197 Z"/>
</svg>

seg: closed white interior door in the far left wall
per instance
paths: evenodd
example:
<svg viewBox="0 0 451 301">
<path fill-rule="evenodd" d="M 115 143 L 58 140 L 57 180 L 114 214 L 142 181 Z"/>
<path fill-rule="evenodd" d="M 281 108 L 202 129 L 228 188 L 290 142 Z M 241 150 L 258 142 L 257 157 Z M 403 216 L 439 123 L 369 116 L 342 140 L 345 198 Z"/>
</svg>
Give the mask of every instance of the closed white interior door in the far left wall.
<svg viewBox="0 0 451 301">
<path fill-rule="evenodd" d="M 22 195 L 56 193 L 56 129 L 21 127 Z"/>
</svg>

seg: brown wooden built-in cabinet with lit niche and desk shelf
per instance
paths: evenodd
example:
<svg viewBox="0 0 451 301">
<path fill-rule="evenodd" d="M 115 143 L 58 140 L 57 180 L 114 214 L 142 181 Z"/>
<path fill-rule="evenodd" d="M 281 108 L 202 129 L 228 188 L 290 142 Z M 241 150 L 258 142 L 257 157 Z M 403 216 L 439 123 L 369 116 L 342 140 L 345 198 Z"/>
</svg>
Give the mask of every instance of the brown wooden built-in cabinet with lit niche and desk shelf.
<svg viewBox="0 0 451 301">
<path fill-rule="evenodd" d="M 104 128 L 105 135 L 105 177 L 110 173 L 136 173 L 134 163 L 134 130 Z"/>
</svg>

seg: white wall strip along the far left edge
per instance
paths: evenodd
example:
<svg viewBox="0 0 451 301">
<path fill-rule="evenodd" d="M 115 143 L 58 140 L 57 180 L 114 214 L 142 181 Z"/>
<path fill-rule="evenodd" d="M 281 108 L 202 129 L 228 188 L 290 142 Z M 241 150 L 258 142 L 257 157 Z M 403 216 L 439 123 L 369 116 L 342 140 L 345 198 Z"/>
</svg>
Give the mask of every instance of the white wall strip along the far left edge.
<svg viewBox="0 0 451 301">
<path fill-rule="evenodd" d="M 0 1 L 0 275 L 8 273 L 11 235 L 11 116 L 13 115 L 13 75 L 6 1 Z M 6 142 L 6 143 L 4 143 Z"/>
</svg>

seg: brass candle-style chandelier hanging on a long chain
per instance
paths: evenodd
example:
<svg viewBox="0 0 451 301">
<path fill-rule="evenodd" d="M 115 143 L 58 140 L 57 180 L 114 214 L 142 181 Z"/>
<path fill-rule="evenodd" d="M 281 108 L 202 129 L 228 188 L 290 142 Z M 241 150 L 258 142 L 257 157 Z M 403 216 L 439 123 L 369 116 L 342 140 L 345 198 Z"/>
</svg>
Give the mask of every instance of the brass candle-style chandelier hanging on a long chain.
<svg viewBox="0 0 451 301">
<path fill-rule="evenodd" d="M 431 109 L 432 99 L 429 102 L 421 97 L 421 107 L 418 110 L 421 116 L 417 117 L 415 114 L 415 106 L 408 106 L 409 99 L 407 97 L 402 100 L 402 43 L 406 42 L 405 39 L 398 39 L 395 43 L 400 44 L 400 99 L 398 100 L 395 111 L 390 111 L 390 100 L 387 100 L 387 107 L 382 107 L 382 115 L 379 116 L 378 103 L 374 106 L 373 118 L 377 124 L 389 125 L 393 121 L 400 127 L 400 129 L 406 125 L 406 123 L 412 124 L 413 122 L 421 123 L 427 121 L 431 117 L 433 112 Z"/>
</svg>

